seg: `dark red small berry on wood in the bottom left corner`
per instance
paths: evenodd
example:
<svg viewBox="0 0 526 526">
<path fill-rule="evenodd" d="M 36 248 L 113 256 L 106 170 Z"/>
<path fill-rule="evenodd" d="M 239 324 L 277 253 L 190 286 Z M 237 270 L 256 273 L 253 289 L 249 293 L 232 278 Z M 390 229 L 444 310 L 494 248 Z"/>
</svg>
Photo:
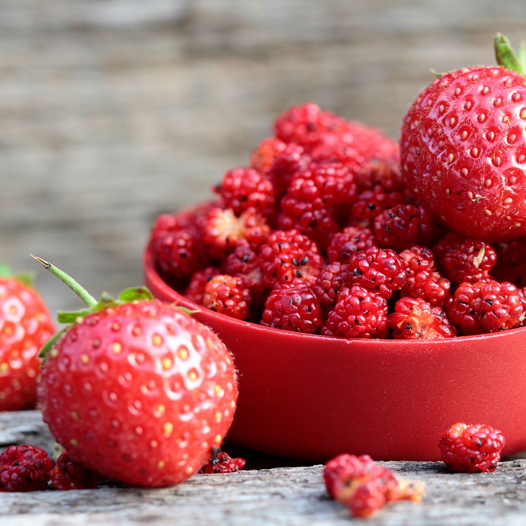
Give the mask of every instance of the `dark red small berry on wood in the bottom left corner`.
<svg viewBox="0 0 526 526">
<path fill-rule="evenodd" d="M 38 491 L 47 488 L 53 460 L 34 446 L 10 446 L 0 454 L 0 491 Z"/>
</svg>

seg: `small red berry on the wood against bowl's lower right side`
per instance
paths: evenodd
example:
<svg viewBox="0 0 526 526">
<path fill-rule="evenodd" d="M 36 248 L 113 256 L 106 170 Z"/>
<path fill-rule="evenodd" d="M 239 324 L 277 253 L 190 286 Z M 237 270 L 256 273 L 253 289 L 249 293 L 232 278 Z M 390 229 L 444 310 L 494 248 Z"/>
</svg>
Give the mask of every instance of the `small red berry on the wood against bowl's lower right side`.
<svg viewBox="0 0 526 526">
<path fill-rule="evenodd" d="M 438 446 L 442 461 L 451 471 L 491 473 L 497 469 L 504 444 L 498 429 L 457 422 L 442 435 Z"/>
</svg>

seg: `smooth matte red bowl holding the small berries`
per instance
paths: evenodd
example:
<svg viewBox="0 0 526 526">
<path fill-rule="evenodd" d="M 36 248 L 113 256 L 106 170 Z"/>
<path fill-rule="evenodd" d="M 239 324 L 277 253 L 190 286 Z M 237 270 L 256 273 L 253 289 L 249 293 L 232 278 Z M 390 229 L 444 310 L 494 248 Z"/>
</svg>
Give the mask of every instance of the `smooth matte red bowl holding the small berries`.
<svg viewBox="0 0 526 526">
<path fill-rule="evenodd" d="M 159 276 L 154 296 L 194 316 L 232 351 L 239 401 L 229 440 L 284 457 L 338 453 L 377 460 L 439 460 L 442 432 L 487 423 L 504 454 L 526 450 L 526 328 L 437 340 L 346 340 L 262 327 L 199 307 Z"/>
</svg>

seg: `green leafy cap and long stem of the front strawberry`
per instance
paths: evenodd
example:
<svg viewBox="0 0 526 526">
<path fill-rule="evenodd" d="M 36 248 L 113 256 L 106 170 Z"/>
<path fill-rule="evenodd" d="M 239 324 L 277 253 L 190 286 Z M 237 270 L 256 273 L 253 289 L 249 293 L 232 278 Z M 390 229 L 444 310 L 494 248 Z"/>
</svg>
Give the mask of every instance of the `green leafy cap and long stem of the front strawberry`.
<svg viewBox="0 0 526 526">
<path fill-rule="evenodd" d="M 102 310 L 117 307 L 119 305 L 127 305 L 137 301 L 153 301 L 154 295 L 148 290 L 147 287 L 130 287 L 123 290 L 118 298 L 114 298 L 108 292 L 103 292 L 100 295 L 100 299 L 96 300 L 89 292 L 75 281 L 71 276 L 66 274 L 63 270 L 60 270 L 58 267 L 55 267 L 49 261 L 46 261 L 42 258 L 33 256 L 30 254 L 33 259 L 38 261 L 46 270 L 49 270 L 54 276 L 56 276 L 60 281 L 67 285 L 75 294 L 84 301 L 86 304 L 85 309 L 72 310 L 72 311 L 59 311 L 57 315 L 57 320 L 59 323 L 67 324 L 62 330 L 58 331 L 53 335 L 47 342 L 44 344 L 38 357 L 42 359 L 41 369 L 44 367 L 46 358 L 49 352 L 55 347 L 55 343 L 64 336 L 64 334 L 72 327 L 74 323 L 80 323 L 86 316 L 93 314 L 94 312 L 100 312 Z M 0 269 L 1 270 L 1 269 Z M 0 274 L 1 276 L 1 274 Z M 198 310 L 190 310 L 186 307 L 181 307 L 179 305 L 175 306 L 177 309 L 185 312 L 188 315 L 199 312 Z"/>
</svg>

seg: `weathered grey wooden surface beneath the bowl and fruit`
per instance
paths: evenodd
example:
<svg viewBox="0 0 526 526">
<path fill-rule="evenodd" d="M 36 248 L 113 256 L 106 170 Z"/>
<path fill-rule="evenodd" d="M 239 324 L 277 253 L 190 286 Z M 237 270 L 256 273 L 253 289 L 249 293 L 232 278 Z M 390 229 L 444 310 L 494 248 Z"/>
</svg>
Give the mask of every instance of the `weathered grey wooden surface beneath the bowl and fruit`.
<svg viewBox="0 0 526 526">
<path fill-rule="evenodd" d="M 39 413 L 0 413 L 0 447 L 27 441 L 51 447 Z M 401 477 L 425 481 L 428 490 L 421 504 L 390 504 L 370 524 L 519 526 L 526 521 L 526 460 L 502 462 L 492 474 L 453 474 L 440 462 L 383 464 Z M 155 490 L 0 493 L 0 510 L 2 526 L 350 523 L 347 510 L 326 496 L 321 466 L 196 475 Z"/>
</svg>

